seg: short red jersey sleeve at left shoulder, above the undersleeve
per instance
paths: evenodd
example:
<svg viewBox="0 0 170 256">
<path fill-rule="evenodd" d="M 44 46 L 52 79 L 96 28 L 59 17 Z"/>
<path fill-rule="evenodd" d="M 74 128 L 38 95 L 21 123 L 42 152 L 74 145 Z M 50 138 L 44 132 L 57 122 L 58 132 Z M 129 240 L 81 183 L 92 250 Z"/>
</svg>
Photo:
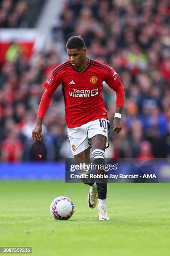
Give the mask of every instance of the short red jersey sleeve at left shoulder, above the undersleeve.
<svg viewBox="0 0 170 256">
<path fill-rule="evenodd" d="M 52 94 L 55 92 L 57 87 L 61 83 L 61 75 L 60 72 L 54 77 L 53 74 L 50 75 L 50 77 L 47 78 L 47 80 L 44 83 L 44 87 L 47 89 L 48 92 L 51 92 Z"/>
</svg>

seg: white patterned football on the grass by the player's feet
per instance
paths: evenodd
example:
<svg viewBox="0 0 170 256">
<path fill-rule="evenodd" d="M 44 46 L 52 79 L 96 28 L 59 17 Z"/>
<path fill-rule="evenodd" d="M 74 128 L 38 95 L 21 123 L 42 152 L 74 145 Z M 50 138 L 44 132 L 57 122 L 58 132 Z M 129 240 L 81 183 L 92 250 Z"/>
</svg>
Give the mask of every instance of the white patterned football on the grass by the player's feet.
<svg viewBox="0 0 170 256">
<path fill-rule="evenodd" d="M 68 220 L 74 213 L 74 204 L 68 197 L 56 197 L 51 205 L 51 215 L 56 220 Z"/>
</svg>

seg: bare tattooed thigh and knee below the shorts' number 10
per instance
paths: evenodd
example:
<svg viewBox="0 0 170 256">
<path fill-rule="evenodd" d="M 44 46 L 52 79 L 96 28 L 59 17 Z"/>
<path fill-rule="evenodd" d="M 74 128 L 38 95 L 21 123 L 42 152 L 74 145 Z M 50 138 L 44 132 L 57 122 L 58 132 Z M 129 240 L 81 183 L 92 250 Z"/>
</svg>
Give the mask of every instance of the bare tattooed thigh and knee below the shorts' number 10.
<svg viewBox="0 0 170 256">
<path fill-rule="evenodd" d="M 92 151 L 95 149 L 101 149 L 105 151 L 106 143 L 107 143 L 107 137 L 102 134 L 96 134 L 92 138 L 89 139 L 90 144 L 92 146 Z"/>
</svg>

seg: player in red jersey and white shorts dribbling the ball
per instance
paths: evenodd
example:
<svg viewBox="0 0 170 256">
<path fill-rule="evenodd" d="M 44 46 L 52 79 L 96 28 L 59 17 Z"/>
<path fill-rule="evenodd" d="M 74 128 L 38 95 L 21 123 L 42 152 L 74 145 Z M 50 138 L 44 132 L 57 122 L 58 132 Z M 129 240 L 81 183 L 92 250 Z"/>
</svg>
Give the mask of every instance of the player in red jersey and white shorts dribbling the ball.
<svg viewBox="0 0 170 256">
<path fill-rule="evenodd" d="M 83 39 L 73 36 L 66 44 L 68 61 L 57 66 L 44 84 L 46 88 L 40 102 L 32 140 L 40 141 L 42 120 L 47 111 L 52 95 L 62 84 L 65 102 L 65 120 L 67 123 L 70 147 L 76 164 L 90 163 L 90 145 L 92 147 L 93 164 L 99 166 L 98 174 L 105 171 L 100 166 L 105 164 L 105 148 L 109 134 L 109 120 L 102 98 L 102 82 L 105 81 L 116 92 L 116 113 L 113 120 L 113 132 L 122 129 L 121 113 L 125 93 L 121 79 L 109 65 L 86 57 Z M 90 174 L 87 169 L 79 169 L 79 174 Z M 109 220 L 106 210 L 107 179 L 82 179 L 90 185 L 87 198 L 90 208 L 98 202 L 99 220 Z M 99 200 L 98 200 L 99 199 Z"/>
</svg>

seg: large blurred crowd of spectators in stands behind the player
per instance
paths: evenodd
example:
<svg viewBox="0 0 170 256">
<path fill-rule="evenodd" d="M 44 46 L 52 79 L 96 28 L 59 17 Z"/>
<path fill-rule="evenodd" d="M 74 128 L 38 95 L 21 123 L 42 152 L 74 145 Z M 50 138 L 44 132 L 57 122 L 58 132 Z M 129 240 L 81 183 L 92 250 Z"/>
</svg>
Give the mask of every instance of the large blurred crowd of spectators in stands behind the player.
<svg viewBox="0 0 170 256">
<path fill-rule="evenodd" d="M 10 1 L 9 1 L 10 2 Z M 60 30 L 63 44 L 81 35 L 87 56 L 109 64 L 125 87 L 122 131 L 113 134 L 115 92 L 104 83 L 110 120 L 106 157 L 170 157 L 170 6 L 168 0 L 66 0 Z M 43 82 L 65 53 L 51 48 L 28 62 L 21 49 L 0 69 L 1 161 L 58 161 L 72 157 L 61 87 L 43 121 L 42 141 L 30 137 Z"/>
</svg>

